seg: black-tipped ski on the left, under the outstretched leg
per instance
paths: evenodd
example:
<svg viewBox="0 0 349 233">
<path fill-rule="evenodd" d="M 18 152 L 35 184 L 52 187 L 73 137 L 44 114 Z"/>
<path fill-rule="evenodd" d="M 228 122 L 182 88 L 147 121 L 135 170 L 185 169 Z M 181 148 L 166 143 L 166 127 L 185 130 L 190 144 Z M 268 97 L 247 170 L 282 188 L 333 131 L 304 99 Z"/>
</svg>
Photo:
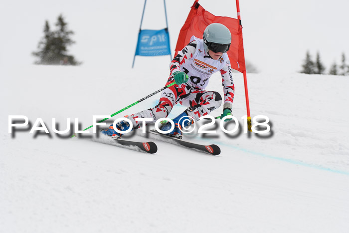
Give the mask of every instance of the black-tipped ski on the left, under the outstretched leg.
<svg viewBox="0 0 349 233">
<path fill-rule="evenodd" d="M 158 151 L 157 144 L 154 142 L 134 142 L 134 141 L 129 141 L 129 140 L 124 140 L 124 139 L 116 139 L 116 138 L 111 138 L 112 141 L 111 143 L 109 142 L 103 142 L 103 141 L 97 141 L 97 142 L 102 142 L 105 144 L 109 145 L 121 145 L 125 146 L 124 148 L 131 149 L 131 150 L 141 150 L 149 154 L 154 154 Z"/>
</svg>

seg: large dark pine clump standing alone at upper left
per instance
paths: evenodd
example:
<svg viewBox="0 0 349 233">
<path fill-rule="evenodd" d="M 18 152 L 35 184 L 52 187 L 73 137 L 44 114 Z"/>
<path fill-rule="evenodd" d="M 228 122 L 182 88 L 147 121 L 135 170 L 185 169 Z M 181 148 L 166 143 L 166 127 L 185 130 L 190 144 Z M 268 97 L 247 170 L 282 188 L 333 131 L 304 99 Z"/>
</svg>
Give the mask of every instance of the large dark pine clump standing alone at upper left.
<svg viewBox="0 0 349 233">
<path fill-rule="evenodd" d="M 72 30 L 68 30 L 67 23 L 60 14 L 56 22 L 57 29 L 50 30 L 48 21 L 45 21 L 44 36 L 38 43 L 38 51 L 33 52 L 32 55 L 39 58 L 35 64 L 44 65 L 78 65 L 80 64 L 74 56 L 67 54 L 67 46 L 75 43 L 70 36 L 74 34 Z"/>
</svg>

